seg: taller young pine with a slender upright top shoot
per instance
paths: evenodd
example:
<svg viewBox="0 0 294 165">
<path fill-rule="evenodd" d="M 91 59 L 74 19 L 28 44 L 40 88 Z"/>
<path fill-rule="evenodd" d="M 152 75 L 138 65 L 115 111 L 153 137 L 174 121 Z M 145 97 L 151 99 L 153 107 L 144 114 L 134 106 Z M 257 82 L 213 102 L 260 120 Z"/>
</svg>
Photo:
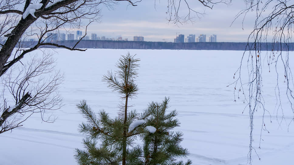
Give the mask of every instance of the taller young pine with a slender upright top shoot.
<svg viewBox="0 0 294 165">
<path fill-rule="evenodd" d="M 118 71 L 115 75 L 108 71 L 108 75 L 103 76 L 103 81 L 108 83 L 108 87 L 121 95 L 122 105 L 115 119 L 111 119 L 104 110 L 100 111 L 97 117 L 85 101 L 77 105 L 80 113 L 87 119 L 87 123 L 79 126 L 80 132 L 87 135 L 83 140 L 85 150 L 76 149 L 75 158 L 79 164 L 126 165 L 129 146 L 140 134 L 138 131 L 144 130 L 138 125 L 136 130 L 128 132 L 130 123 L 139 118 L 135 111 L 128 112 L 128 99 L 135 96 L 138 91 L 134 82 L 137 77 L 138 61 L 139 59 L 128 53 L 118 60 Z"/>
</svg>

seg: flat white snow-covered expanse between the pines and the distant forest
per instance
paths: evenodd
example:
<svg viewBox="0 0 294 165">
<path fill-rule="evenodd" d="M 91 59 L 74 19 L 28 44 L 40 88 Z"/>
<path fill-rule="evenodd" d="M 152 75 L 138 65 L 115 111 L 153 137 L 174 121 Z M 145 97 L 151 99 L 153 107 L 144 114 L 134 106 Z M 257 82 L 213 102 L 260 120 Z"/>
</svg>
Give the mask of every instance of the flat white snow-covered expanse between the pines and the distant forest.
<svg viewBox="0 0 294 165">
<path fill-rule="evenodd" d="M 57 67 L 65 74 L 60 88 L 65 106 L 54 111 L 54 123 L 44 123 L 35 114 L 23 128 L 0 134 L 0 164 L 2 165 L 76 165 L 75 148 L 82 148 L 77 128 L 84 121 L 75 105 L 81 100 L 98 112 L 105 109 L 116 116 L 120 102 L 117 93 L 107 88 L 101 78 L 108 70 L 116 70 L 120 55 L 128 51 L 141 59 L 138 97 L 132 99 L 132 109 L 142 112 L 149 102 L 161 102 L 170 97 L 170 110 L 177 109 L 182 145 L 190 151 L 195 165 L 247 164 L 249 150 L 249 117 L 243 100 L 234 102 L 234 72 L 240 65 L 242 51 L 199 50 L 120 50 L 88 49 L 86 52 L 55 49 Z M 35 52 L 36 53 L 36 52 Z M 290 55 L 294 55 L 290 52 Z M 292 61 L 293 62 L 293 61 Z M 265 67 L 266 68 L 266 67 Z M 273 68 L 272 68 L 273 70 Z M 265 117 L 270 133 L 263 132 L 261 149 L 259 135 L 262 116 L 256 113 L 254 146 L 261 158 L 253 153 L 254 165 L 293 164 L 294 125 L 275 118 L 275 72 L 265 69 L 263 77 Z M 286 99 L 282 97 L 282 99 Z M 289 111 L 284 107 L 285 111 Z M 289 123 L 292 113 L 286 113 Z M 279 115 L 278 115 L 279 117 Z"/>
</svg>

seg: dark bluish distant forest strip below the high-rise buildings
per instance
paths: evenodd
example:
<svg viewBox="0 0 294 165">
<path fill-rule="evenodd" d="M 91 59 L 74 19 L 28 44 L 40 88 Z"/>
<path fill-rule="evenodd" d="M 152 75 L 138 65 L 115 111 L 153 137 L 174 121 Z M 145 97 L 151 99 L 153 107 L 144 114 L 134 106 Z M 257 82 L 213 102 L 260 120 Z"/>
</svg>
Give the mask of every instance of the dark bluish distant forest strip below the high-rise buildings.
<svg viewBox="0 0 294 165">
<path fill-rule="evenodd" d="M 57 44 L 67 47 L 74 47 L 77 40 L 58 41 Z M 24 45 L 30 47 L 36 43 L 24 42 Z M 293 51 L 294 43 L 261 43 L 258 45 L 259 50 Z M 45 46 L 44 46 L 45 47 Z M 48 46 L 46 47 L 53 47 Z M 56 48 L 56 47 L 55 47 Z M 192 43 L 174 43 L 174 42 L 146 42 L 146 41 L 101 41 L 101 40 L 81 40 L 75 48 L 97 48 L 97 49 L 186 49 L 186 50 L 252 50 L 255 48 L 254 43 L 248 42 L 192 42 Z"/>
</svg>

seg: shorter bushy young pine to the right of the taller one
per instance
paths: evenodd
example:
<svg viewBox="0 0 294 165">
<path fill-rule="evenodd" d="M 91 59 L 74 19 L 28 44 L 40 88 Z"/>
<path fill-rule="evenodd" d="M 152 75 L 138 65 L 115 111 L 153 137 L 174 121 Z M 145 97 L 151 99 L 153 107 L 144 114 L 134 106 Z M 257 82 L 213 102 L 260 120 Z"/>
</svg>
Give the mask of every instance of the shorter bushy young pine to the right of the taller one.
<svg viewBox="0 0 294 165">
<path fill-rule="evenodd" d="M 143 145 L 136 146 L 131 150 L 130 155 L 134 159 L 128 164 L 132 165 L 190 165 L 191 160 L 186 163 L 176 161 L 177 158 L 186 158 L 188 150 L 180 145 L 183 140 L 183 133 L 172 131 L 179 126 L 179 120 L 175 117 L 176 110 L 166 112 L 169 98 L 165 98 L 162 103 L 152 102 L 146 109 L 145 134 L 142 134 Z"/>
</svg>

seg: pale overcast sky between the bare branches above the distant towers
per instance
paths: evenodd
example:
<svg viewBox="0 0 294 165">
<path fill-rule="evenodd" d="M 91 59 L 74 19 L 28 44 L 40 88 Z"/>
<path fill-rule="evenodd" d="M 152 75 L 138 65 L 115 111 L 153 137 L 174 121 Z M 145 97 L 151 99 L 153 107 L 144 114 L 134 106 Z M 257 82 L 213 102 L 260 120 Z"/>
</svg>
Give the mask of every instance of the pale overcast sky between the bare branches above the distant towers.
<svg viewBox="0 0 294 165">
<path fill-rule="evenodd" d="M 192 2 L 190 2 L 192 3 Z M 246 8 L 244 1 L 233 1 L 231 5 L 214 5 L 213 9 L 204 8 L 199 2 L 190 4 L 194 10 L 203 12 L 205 15 L 200 19 L 195 18 L 194 23 L 188 22 L 183 25 L 174 25 L 166 20 L 166 1 L 146 0 L 137 3 L 138 6 L 128 5 L 127 2 L 120 2 L 114 6 L 113 10 L 101 8 L 101 22 L 92 23 L 88 27 L 88 34 L 97 33 L 97 36 L 106 38 L 117 38 L 133 40 L 133 36 L 144 36 L 145 41 L 168 41 L 173 42 L 178 34 L 184 34 L 185 38 L 189 34 L 217 35 L 217 42 L 246 42 L 248 35 L 252 31 L 255 20 L 254 13 L 249 13 L 244 21 L 242 29 L 242 19 L 238 18 L 233 25 L 235 15 Z M 155 5 L 155 6 L 154 6 Z M 186 12 L 186 6 L 181 12 Z M 231 25 L 231 26 L 230 26 Z"/>
</svg>

